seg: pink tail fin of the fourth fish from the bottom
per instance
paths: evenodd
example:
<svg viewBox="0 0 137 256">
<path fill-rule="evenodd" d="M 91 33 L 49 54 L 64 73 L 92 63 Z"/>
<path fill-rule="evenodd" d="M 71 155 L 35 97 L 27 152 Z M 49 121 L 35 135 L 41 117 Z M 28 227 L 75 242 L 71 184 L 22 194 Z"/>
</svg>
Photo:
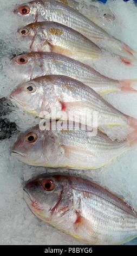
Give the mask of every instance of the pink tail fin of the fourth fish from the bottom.
<svg viewBox="0 0 137 256">
<path fill-rule="evenodd" d="M 137 92 L 137 79 L 122 80 L 120 83 L 122 92 Z"/>
</svg>

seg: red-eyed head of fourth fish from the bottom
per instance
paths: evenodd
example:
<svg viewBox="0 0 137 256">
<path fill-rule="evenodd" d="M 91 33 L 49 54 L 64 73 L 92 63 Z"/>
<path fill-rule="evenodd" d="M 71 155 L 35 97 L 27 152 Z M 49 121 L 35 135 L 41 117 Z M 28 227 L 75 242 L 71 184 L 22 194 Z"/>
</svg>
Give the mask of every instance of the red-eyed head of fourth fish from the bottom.
<svg viewBox="0 0 137 256">
<path fill-rule="evenodd" d="M 19 54 L 10 60 L 9 68 L 21 82 L 40 77 L 45 71 L 43 58 L 39 53 Z"/>
</svg>

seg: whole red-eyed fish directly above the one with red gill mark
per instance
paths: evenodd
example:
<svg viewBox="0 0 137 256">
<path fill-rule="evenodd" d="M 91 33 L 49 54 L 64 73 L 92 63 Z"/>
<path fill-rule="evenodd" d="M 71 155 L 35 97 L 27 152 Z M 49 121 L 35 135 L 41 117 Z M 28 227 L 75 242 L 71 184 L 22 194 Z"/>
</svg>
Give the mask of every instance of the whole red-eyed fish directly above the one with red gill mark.
<svg viewBox="0 0 137 256">
<path fill-rule="evenodd" d="M 19 54 L 10 63 L 10 69 L 21 82 L 45 75 L 72 77 L 93 88 L 100 95 L 118 91 L 134 91 L 135 80 L 112 80 L 90 66 L 57 53 L 35 52 Z M 8 70 L 9 71 L 9 70 Z M 133 87 L 132 87 L 133 86 Z"/>
</svg>

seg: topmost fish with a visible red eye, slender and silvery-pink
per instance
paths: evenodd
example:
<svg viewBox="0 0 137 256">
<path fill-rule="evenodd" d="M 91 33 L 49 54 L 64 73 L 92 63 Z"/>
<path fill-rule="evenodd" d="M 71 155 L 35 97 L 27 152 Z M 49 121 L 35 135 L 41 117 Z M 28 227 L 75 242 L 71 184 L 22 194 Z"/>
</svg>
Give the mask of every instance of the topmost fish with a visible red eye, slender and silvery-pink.
<svg viewBox="0 0 137 256">
<path fill-rule="evenodd" d="M 134 50 L 131 47 L 109 35 L 101 27 L 67 4 L 55 0 L 32 1 L 19 6 L 14 12 L 23 16 L 27 23 L 37 21 L 61 23 L 86 36 L 100 48 L 123 57 L 134 56 Z"/>
</svg>

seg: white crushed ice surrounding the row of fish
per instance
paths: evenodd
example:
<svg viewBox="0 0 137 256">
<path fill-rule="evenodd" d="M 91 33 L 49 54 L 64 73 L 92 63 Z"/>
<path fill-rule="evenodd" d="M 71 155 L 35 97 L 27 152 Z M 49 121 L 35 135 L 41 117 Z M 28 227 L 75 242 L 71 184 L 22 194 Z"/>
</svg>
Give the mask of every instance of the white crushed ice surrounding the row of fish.
<svg viewBox="0 0 137 256">
<path fill-rule="evenodd" d="M 7 62 L 12 54 L 22 53 L 25 49 L 25 45 L 21 42 L 19 43 L 16 36 L 17 28 L 22 26 L 22 24 L 19 24 L 19 19 L 16 19 L 11 12 L 15 4 L 22 2 L 22 0 L 0 0 L 2 10 L 0 17 L 0 54 L 4 57 L 0 66 L 0 70 L 2 71 L 1 97 L 8 96 L 14 86 L 16 86 L 14 77 L 4 75 L 5 60 Z M 91 3 L 92 1 L 88 0 L 88 2 Z M 112 5 L 110 2 L 112 2 Z M 99 6 L 106 8 L 106 5 L 99 4 Z M 113 14 L 117 20 L 115 20 L 115 25 L 107 22 L 106 29 L 137 50 L 137 15 L 135 17 L 137 7 L 132 3 L 124 3 L 122 0 L 109 0 L 107 6 L 113 7 Z M 137 118 L 137 93 L 113 93 L 105 97 L 124 113 Z M 16 121 L 21 131 L 28 129 L 28 127 L 38 122 L 38 119 L 34 119 L 31 115 L 18 111 L 18 109 L 10 114 L 9 119 Z M 0 142 L 0 244 L 82 245 L 82 242 L 62 234 L 60 231 L 38 220 L 28 209 L 23 200 L 22 186 L 24 182 L 33 176 L 45 172 L 45 169 L 27 166 L 10 156 L 12 145 L 16 139 L 17 135 Z M 137 147 L 134 147 L 132 150 L 120 156 L 112 164 L 100 170 L 86 172 L 69 170 L 68 172 L 83 176 L 84 178 L 92 178 L 113 193 L 125 198 L 137 210 L 136 155 Z M 61 170 L 61 172 L 64 173 L 67 171 Z M 137 239 L 128 244 L 137 245 Z"/>
</svg>

